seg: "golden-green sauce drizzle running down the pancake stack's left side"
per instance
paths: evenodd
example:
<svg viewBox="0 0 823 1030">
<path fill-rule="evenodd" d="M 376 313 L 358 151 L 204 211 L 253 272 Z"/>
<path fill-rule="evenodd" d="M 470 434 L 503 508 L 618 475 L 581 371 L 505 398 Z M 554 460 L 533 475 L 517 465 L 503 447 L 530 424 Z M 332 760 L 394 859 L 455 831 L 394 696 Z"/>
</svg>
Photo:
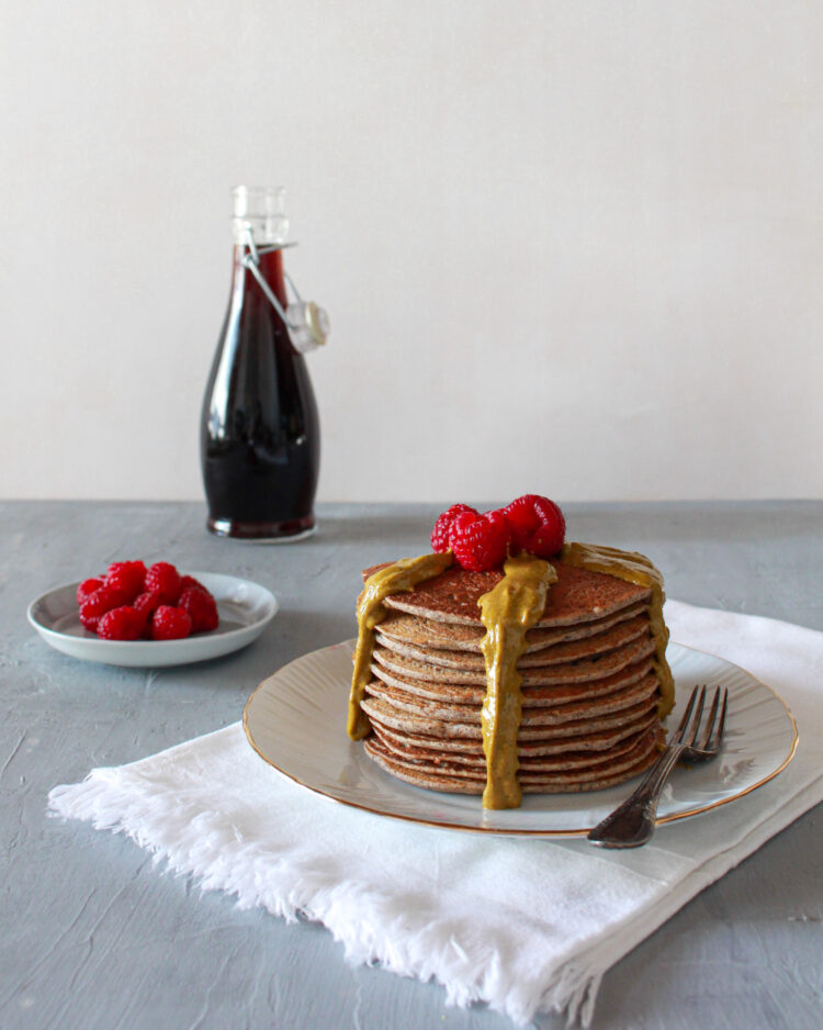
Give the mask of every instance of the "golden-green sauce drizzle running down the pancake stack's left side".
<svg viewBox="0 0 823 1030">
<path fill-rule="evenodd" d="M 390 594 L 412 591 L 424 580 L 446 572 L 454 560 L 451 551 L 442 555 L 421 555 L 419 558 L 401 558 L 385 569 L 379 569 L 365 581 L 358 597 L 358 645 L 354 651 L 354 672 L 349 694 L 349 718 L 347 730 L 352 740 L 362 740 L 369 735 L 371 723 L 360 707 L 365 686 L 372 678 L 374 653 L 374 627 L 386 617 L 383 601 Z"/>
</svg>

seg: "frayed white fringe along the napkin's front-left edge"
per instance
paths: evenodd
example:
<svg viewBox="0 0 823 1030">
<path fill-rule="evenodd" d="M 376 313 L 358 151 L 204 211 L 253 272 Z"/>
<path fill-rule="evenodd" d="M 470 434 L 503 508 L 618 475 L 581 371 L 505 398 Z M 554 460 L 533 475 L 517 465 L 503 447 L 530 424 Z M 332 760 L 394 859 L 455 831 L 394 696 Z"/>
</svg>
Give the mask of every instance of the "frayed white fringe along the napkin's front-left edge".
<svg viewBox="0 0 823 1030">
<path fill-rule="evenodd" d="M 351 965 L 380 965 L 424 983 L 435 981 L 444 989 L 447 1005 L 467 1008 L 483 1003 L 519 1026 L 528 1025 L 540 1011 L 554 1011 L 565 1012 L 568 1026 L 588 1027 L 602 975 L 613 964 L 613 960 L 606 960 L 602 967 L 600 963 L 593 967 L 587 961 L 584 969 L 578 962 L 566 962 L 548 975 L 523 983 L 503 969 L 497 955 L 478 962 L 452 936 L 443 939 L 436 930 L 406 937 L 398 947 L 393 941 L 391 919 L 352 928 L 339 904 L 343 895 L 350 902 L 350 885 L 327 882 L 315 871 L 290 864 L 286 857 L 272 870 L 267 854 L 263 876 L 256 871 L 256 846 L 244 844 L 239 838 L 233 840 L 227 835 L 217 847 L 203 847 L 196 839 L 185 838 L 182 843 L 167 844 L 167 814 L 158 813 L 150 802 L 135 798 L 121 769 L 93 769 L 80 783 L 54 787 L 48 795 L 48 814 L 90 822 L 95 830 L 123 833 L 149 852 L 155 865 L 166 863 L 167 871 L 176 875 L 193 876 L 201 891 L 233 895 L 239 908 L 262 908 L 288 922 L 296 922 L 301 916 L 320 922 L 342 944 Z M 178 819 L 188 826 L 196 821 L 179 815 Z M 206 850 L 211 857 L 204 853 Z M 243 862 L 237 861 L 240 852 Z M 233 869 L 241 864 L 251 871 L 238 880 Z M 283 873 L 288 882 L 279 882 Z"/>
</svg>

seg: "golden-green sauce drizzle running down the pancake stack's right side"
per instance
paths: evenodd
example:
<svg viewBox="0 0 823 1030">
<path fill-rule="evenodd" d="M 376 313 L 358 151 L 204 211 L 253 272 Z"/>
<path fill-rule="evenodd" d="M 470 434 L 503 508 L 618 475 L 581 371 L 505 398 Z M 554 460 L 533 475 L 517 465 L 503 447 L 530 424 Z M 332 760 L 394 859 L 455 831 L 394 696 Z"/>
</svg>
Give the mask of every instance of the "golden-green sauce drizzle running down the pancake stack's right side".
<svg viewBox="0 0 823 1030">
<path fill-rule="evenodd" d="M 565 544 L 561 561 L 567 566 L 576 566 L 588 572 L 602 572 L 613 575 L 638 586 L 646 586 L 652 591 L 649 605 L 649 622 L 655 643 L 654 671 L 661 687 L 661 699 L 657 705 L 657 715 L 665 718 L 675 703 L 675 681 L 672 670 L 666 661 L 666 645 L 668 643 L 668 629 L 663 622 L 663 576 L 652 562 L 636 551 L 621 551 L 616 547 L 601 547 L 596 544 Z"/>
</svg>

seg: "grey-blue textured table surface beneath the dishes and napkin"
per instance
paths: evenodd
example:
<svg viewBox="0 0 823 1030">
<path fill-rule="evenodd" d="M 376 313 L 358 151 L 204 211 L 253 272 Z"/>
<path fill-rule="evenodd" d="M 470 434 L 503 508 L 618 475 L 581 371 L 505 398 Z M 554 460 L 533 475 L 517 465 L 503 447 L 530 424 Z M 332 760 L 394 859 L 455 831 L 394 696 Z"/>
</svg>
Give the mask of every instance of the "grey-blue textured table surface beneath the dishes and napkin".
<svg viewBox="0 0 823 1030">
<path fill-rule="evenodd" d="M 2 1030 L 514 1026 L 484 1006 L 446 1008 L 435 984 L 352 969 L 323 927 L 239 911 L 165 874 L 133 842 L 45 813 L 55 784 L 234 723 L 274 669 L 352 636 L 359 570 L 425 550 L 437 511 L 327 505 L 315 537 L 266 547 L 211 537 L 193 503 L 0 503 Z M 823 503 L 566 514 L 572 539 L 647 553 L 670 597 L 823 630 Z M 135 557 L 257 580 L 280 613 L 245 651 L 150 672 L 75 661 L 29 627 L 33 597 Z M 819 1030 L 822 918 L 819 806 L 618 963 L 594 1026 Z"/>
</svg>

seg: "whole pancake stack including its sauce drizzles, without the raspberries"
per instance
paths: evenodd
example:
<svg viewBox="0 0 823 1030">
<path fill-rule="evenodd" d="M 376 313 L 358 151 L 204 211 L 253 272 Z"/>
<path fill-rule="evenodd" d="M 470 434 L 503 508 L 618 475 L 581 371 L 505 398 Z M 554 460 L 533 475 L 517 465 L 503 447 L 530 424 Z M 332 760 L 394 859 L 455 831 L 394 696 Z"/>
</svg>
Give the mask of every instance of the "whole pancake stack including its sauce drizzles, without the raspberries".
<svg viewBox="0 0 823 1030">
<path fill-rule="evenodd" d="M 350 732 L 370 759 L 495 808 L 517 805 L 520 791 L 596 791 L 649 768 L 672 698 L 649 560 L 568 545 L 548 562 L 509 558 L 504 574 L 443 557 L 363 573 L 386 570 L 358 608 Z"/>
</svg>

